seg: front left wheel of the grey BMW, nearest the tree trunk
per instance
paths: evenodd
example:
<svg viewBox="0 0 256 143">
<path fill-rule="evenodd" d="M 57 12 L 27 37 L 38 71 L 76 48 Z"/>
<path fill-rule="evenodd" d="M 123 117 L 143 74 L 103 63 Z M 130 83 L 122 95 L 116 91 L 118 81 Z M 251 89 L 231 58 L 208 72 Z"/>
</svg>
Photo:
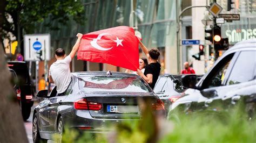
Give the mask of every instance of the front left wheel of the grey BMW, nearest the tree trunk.
<svg viewBox="0 0 256 143">
<path fill-rule="evenodd" d="M 35 115 L 33 117 L 33 124 L 32 124 L 32 137 L 33 137 L 33 142 L 47 142 L 46 139 L 42 139 L 39 134 L 38 130 L 38 120 L 37 116 Z"/>
</svg>

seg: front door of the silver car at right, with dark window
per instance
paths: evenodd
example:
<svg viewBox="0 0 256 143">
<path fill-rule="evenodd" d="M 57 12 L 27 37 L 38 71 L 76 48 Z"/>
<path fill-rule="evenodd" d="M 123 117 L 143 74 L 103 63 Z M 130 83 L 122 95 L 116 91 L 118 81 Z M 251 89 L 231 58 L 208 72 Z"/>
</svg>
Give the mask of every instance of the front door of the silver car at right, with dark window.
<svg viewBox="0 0 256 143">
<path fill-rule="evenodd" d="M 221 92 L 225 91 L 224 75 L 230 72 L 238 54 L 239 52 L 226 55 L 203 77 L 204 80 L 199 83 L 201 95 L 198 98 L 197 109 L 220 110 L 223 108 Z"/>
</svg>

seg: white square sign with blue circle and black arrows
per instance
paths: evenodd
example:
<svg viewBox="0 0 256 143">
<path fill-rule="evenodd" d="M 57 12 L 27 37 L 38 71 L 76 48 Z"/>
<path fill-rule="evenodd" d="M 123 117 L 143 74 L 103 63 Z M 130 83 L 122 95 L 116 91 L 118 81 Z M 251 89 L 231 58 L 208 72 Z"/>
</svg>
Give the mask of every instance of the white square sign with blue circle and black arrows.
<svg viewBox="0 0 256 143">
<path fill-rule="evenodd" d="M 42 60 L 50 60 L 51 40 L 50 34 L 27 34 L 24 35 L 24 58 L 25 61 L 39 61 L 38 54 L 42 51 Z"/>
</svg>

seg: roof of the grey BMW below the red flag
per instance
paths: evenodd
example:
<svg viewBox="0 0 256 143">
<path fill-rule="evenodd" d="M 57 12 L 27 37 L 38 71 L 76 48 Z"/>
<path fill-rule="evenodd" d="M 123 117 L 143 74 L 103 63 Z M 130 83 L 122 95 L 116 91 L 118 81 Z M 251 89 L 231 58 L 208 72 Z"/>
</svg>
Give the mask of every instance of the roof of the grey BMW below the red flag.
<svg viewBox="0 0 256 143">
<path fill-rule="evenodd" d="M 112 75 L 109 76 L 123 76 L 123 77 L 136 77 L 136 78 L 141 78 L 140 76 L 136 74 L 128 74 L 128 73 L 122 73 L 122 72 L 116 72 L 116 71 L 111 71 Z M 72 73 L 73 75 L 77 77 L 83 77 L 83 76 L 107 76 L 107 71 L 78 71 L 75 73 Z"/>
</svg>

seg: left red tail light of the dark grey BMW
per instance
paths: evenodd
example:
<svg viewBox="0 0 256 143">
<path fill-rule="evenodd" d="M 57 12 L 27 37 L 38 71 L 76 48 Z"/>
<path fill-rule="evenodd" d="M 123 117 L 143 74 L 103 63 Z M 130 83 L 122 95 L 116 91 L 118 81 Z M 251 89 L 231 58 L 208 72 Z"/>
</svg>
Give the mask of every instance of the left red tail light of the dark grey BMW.
<svg viewBox="0 0 256 143">
<path fill-rule="evenodd" d="M 102 109 L 102 104 L 96 102 L 87 102 L 87 100 L 84 98 L 74 102 L 74 107 L 77 110 L 100 110 Z"/>
</svg>

